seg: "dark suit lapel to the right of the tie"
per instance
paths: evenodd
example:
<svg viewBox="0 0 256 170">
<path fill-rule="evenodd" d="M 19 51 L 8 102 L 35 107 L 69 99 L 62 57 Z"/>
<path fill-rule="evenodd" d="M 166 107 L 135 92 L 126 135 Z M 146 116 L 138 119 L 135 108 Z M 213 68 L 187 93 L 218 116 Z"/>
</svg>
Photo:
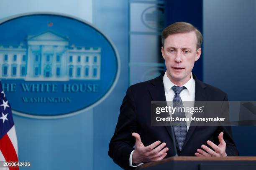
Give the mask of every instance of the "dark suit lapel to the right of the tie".
<svg viewBox="0 0 256 170">
<path fill-rule="evenodd" d="M 205 84 L 201 82 L 200 80 L 197 79 L 197 77 L 193 74 L 193 78 L 195 79 L 195 107 L 202 107 L 204 105 L 205 101 L 207 101 L 207 94 L 205 92 Z M 197 101 L 202 101 L 202 102 L 197 102 Z M 193 117 L 196 114 L 193 115 Z M 192 134 L 194 133 L 196 127 L 197 127 L 198 122 L 192 121 L 190 122 L 189 130 L 187 132 L 187 138 L 184 142 L 183 148 L 185 148 L 185 145 L 191 138 Z"/>
</svg>

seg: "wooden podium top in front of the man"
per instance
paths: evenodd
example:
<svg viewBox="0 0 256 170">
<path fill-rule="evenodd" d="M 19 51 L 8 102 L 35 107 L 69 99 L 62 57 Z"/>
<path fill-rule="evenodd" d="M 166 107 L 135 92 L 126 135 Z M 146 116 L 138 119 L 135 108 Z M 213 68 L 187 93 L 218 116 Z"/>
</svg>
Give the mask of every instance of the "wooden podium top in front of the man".
<svg viewBox="0 0 256 170">
<path fill-rule="evenodd" d="M 136 170 L 256 170 L 256 157 L 170 157 L 146 163 Z"/>
</svg>

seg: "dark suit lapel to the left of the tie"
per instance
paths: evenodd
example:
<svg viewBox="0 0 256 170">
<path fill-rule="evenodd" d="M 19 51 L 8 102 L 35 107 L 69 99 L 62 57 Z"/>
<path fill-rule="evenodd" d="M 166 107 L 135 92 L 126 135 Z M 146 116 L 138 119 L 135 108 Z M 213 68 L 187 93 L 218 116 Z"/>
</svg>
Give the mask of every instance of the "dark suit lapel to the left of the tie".
<svg viewBox="0 0 256 170">
<path fill-rule="evenodd" d="M 149 92 L 150 92 L 152 101 L 166 101 L 165 92 L 164 92 L 164 82 L 163 82 L 164 73 L 162 73 L 159 77 L 156 77 L 155 79 L 151 80 L 152 87 L 149 89 Z M 166 125 L 165 129 L 167 130 L 170 138 L 175 141 L 176 148 L 177 150 L 179 150 L 179 145 L 177 143 L 177 140 L 172 138 L 172 126 Z"/>
</svg>

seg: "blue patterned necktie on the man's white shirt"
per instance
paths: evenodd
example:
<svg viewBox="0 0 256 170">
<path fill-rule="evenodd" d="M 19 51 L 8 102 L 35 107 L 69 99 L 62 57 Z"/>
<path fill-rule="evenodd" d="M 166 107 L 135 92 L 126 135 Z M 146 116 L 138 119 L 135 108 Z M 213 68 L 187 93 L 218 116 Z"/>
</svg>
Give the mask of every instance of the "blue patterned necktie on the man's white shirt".
<svg viewBox="0 0 256 170">
<path fill-rule="evenodd" d="M 172 107 L 182 107 L 183 108 L 183 103 L 182 100 L 179 96 L 179 93 L 182 92 L 186 87 L 178 87 L 178 86 L 173 86 L 172 90 L 174 91 L 175 95 L 173 97 L 173 105 Z M 177 108 L 178 109 L 178 108 Z M 174 112 L 173 116 L 174 120 L 176 120 L 176 117 L 179 118 L 184 118 L 186 117 L 184 112 Z M 175 136 L 179 145 L 180 151 L 183 149 L 183 144 L 184 141 L 187 137 L 187 122 L 186 121 L 174 121 L 173 123 L 173 128 L 175 132 Z"/>
</svg>

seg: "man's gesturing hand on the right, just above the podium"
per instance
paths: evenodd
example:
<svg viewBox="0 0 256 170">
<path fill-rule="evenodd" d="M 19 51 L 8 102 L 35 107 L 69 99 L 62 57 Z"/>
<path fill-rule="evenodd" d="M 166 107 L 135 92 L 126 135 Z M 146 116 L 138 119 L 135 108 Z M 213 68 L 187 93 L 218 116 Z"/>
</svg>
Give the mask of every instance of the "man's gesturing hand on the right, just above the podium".
<svg viewBox="0 0 256 170">
<path fill-rule="evenodd" d="M 195 153 L 196 156 L 215 156 L 215 157 L 222 157 L 222 156 L 227 156 L 226 155 L 226 143 L 225 140 L 223 139 L 223 132 L 221 132 L 218 136 L 220 144 L 217 146 L 215 145 L 212 141 L 208 140 L 207 144 L 210 145 L 214 149 L 210 149 L 209 147 L 202 145 L 202 149 L 197 149 L 197 153 Z M 206 151 L 206 152 L 205 152 Z"/>
</svg>

